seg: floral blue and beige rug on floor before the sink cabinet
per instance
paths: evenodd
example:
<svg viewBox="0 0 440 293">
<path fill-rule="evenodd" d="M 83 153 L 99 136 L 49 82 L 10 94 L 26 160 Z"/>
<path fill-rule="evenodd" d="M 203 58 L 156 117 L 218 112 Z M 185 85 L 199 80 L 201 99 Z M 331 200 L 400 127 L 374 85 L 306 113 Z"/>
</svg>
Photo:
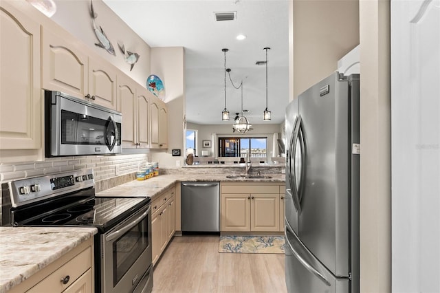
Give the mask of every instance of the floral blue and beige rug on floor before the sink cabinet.
<svg viewBox="0 0 440 293">
<path fill-rule="evenodd" d="M 219 252 L 284 253 L 284 236 L 221 236 Z"/>
</svg>

